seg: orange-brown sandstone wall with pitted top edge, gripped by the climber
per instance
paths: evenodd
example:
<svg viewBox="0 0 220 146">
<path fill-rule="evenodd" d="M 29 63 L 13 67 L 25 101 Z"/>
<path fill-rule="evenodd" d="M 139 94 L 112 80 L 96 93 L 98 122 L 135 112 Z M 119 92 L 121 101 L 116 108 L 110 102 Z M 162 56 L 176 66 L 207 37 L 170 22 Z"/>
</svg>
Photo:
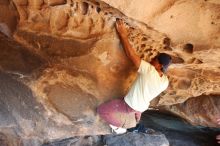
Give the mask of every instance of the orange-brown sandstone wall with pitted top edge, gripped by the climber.
<svg viewBox="0 0 220 146">
<path fill-rule="evenodd" d="M 134 80 L 134 69 L 114 29 L 116 17 L 128 18 L 96 1 L 52 6 L 33 1 L 26 7 L 16 6 L 28 17 L 20 19 L 15 39 L 48 64 L 27 84 L 48 114 L 61 113 L 70 123 L 91 129 L 91 124 L 98 122 L 96 107 L 123 97 Z M 158 51 L 169 49 L 164 34 L 130 19 L 128 22 L 130 40 L 143 59 L 150 60 Z"/>
</svg>

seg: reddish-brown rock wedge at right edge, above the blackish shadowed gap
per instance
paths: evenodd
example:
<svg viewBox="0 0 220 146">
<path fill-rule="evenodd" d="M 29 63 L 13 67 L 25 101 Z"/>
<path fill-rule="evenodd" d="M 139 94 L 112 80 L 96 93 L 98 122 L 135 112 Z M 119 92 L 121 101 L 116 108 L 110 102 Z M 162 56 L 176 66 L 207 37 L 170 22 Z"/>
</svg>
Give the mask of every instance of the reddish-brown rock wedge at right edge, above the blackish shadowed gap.
<svg viewBox="0 0 220 146">
<path fill-rule="evenodd" d="M 186 119 L 193 125 L 217 127 L 216 117 L 220 115 L 219 96 L 202 95 L 184 103 L 164 106 L 163 108 Z"/>
</svg>

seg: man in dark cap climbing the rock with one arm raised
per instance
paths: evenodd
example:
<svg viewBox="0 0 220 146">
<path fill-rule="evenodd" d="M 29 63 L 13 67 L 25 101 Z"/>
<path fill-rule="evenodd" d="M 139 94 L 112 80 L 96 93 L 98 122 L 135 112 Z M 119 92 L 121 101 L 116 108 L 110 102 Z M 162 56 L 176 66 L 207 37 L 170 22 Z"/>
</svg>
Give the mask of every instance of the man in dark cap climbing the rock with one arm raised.
<svg viewBox="0 0 220 146">
<path fill-rule="evenodd" d="M 150 63 L 141 60 L 129 43 L 128 31 L 123 20 L 116 20 L 116 30 L 138 75 L 123 99 L 103 103 L 97 108 L 97 112 L 115 133 L 122 134 L 128 128 L 136 126 L 141 113 L 148 109 L 150 101 L 168 87 L 169 81 L 165 72 L 171 64 L 171 57 L 166 53 L 160 53 Z"/>
</svg>

